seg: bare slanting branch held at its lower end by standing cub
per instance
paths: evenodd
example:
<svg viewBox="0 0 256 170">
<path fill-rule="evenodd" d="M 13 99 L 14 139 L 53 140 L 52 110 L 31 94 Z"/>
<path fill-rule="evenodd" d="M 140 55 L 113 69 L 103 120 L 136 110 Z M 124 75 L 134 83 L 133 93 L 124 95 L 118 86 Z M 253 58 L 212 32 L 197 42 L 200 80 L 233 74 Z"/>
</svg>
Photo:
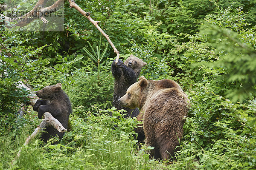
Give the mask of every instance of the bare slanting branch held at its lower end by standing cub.
<svg viewBox="0 0 256 170">
<path fill-rule="evenodd" d="M 115 45 L 113 44 L 113 42 L 110 40 L 108 34 L 106 34 L 98 25 L 99 21 L 94 21 L 91 17 L 90 17 L 90 13 L 89 12 L 85 12 L 82 8 L 80 8 L 76 2 L 74 0 L 68 0 L 70 3 L 70 8 L 75 8 L 77 11 L 79 11 L 84 17 L 87 17 L 87 19 L 99 30 L 99 32 L 108 40 L 108 42 L 110 43 L 111 47 L 114 50 L 114 53 L 116 53 L 116 63 L 119 60 L 120 54 L 119 51 L 116 49 Z"/>
</svg>

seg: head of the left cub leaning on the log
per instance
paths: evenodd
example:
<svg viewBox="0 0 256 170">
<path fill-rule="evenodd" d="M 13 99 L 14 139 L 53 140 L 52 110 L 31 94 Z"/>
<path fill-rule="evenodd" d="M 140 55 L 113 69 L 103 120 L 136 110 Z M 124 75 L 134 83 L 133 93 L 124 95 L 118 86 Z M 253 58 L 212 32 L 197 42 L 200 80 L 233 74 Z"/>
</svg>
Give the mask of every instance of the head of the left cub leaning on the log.
<svg viewBox="0 0 256 170">
<path fill-rule="evenodd" d="M 54 93 L 61 90 L 61 83 L 57 83 L 56 85 L 49 85 L 44 87 L 42 90 L 36 91 L 36 95 L 42 99 L 51 99 L 54 96 Z"/>
</svg>

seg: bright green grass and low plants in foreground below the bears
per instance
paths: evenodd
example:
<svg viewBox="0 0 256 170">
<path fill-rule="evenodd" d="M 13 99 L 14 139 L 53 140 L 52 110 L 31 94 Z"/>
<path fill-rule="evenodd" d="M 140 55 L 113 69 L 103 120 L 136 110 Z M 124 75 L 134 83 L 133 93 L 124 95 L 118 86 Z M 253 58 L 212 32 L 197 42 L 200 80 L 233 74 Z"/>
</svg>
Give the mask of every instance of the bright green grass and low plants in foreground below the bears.
<svg viewBox="0 0 256 170">
<path fill-rule="evenodd" d="M 163 164 L 149 159 L 148 148 L 137 146 L 133 131 L 135 119 L 116 119 L 117 111 L 84 112 L 87 118 L 72 116 L 73 130 L 59 144 L 42 144 L 39 139 L 23 147 L 28 134 L 12 133 L 0 137 L 0 170 L 151 170 Z M 113 117 L 109 116 L 113 112 Z M 24 127 L 24 131 L 29 131 Z M 30 133 L 30 132 L 29 132 Z"/>
</svg>

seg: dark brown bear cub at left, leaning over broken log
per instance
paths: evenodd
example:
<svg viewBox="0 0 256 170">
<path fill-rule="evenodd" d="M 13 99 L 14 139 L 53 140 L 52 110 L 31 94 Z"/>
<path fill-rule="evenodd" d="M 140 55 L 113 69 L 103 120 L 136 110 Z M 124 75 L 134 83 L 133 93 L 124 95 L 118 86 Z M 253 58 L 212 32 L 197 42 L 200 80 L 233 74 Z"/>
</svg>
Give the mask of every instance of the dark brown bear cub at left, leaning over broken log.
<svg viewBox="0 0 256 170">
<path fill-rule="evenodd" d="M 33 110 L 38 112 L 38 118 L 42 119 L 45 112 L 49 112 L 55 119 L 67 129 L 72 106 L 67 94 L 61 89 L 61 83 L 44 87 L 42 90 L 36 91 L 36 95 L 41 98 L 35 103 Z M 52 136 L 58 136 L 61 140 L 64 133 L 59 132 L 52 126 L 46 127 L 41 134 L 41 139 L 44 143 Z M 57 144 L 54 142 L 53 144 Z"/>
</svg>

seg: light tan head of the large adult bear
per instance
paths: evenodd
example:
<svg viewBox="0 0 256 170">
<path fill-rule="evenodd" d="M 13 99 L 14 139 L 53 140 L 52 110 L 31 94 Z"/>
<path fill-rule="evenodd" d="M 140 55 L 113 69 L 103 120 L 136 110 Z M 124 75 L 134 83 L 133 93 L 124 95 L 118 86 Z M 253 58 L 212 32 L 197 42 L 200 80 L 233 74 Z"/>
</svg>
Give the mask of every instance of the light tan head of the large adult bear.
<svg viewBox="0 0 256 170">
<path fill-rule="evenodd" d="M 132 84 L 126 91 L 126 94 L 118 99 L 120 105 L 127 108 L 137 108 L 140 105 L 140 91 L 148 85 L 145 77 L 140 77 L 139 81 Z"/>
</svg>

